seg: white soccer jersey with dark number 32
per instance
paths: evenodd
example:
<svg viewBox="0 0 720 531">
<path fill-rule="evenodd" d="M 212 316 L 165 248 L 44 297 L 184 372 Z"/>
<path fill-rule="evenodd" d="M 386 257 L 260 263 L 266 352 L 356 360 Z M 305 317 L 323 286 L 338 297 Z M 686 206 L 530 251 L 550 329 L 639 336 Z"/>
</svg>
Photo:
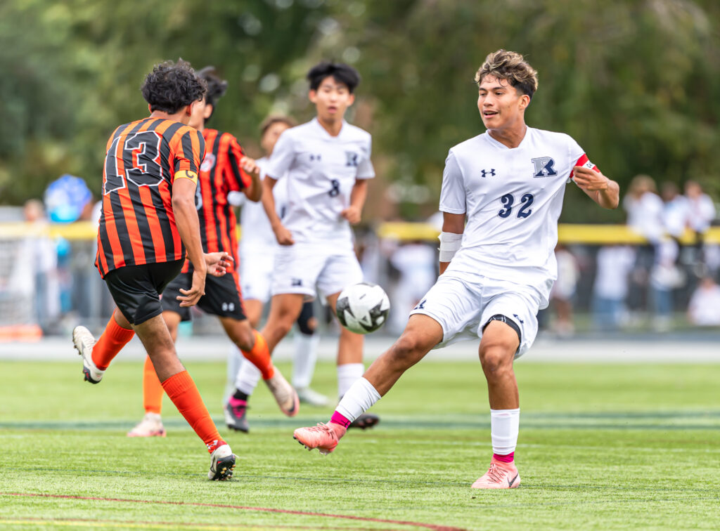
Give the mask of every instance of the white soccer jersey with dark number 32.
<svg viewBox="0 0 720 531">
<path fill-rule="evenodd" d="M 575 165 L 595 168 L 568 135 L 532 127 L 517 148 L 488 132 L 451 148 L 440 210 L 467 214 L 467 226 L 445 274 L 532 286 L 546 307 L 557 278 L 557 219 Z"/>
</svg>

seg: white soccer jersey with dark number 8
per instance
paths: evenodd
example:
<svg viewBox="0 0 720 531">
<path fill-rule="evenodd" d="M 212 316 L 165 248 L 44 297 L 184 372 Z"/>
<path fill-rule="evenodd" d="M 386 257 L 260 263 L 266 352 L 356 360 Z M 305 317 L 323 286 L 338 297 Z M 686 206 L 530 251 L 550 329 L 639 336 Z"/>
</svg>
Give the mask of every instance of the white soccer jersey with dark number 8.
<svg viewBox="0 0 720 531">
<path fill-rule="evenodd" d="M 278 186 L 287 180 L 282 223 L 296 242 L 352 242 L 340 213 L 350 205 L 356 179 L 375 176 L 370 153 L 370 134 L 347 122 L 336 137 L 317 118 L 280 135 L 267 175 L 279 179 Z"/>
</svg>

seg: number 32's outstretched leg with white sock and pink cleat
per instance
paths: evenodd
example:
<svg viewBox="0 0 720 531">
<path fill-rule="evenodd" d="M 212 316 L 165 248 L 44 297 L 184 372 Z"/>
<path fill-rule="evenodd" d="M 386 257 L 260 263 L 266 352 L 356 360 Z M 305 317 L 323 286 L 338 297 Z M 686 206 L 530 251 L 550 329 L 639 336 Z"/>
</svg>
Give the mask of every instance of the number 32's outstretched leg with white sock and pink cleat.
<svg viewBox="0 0 720 531">
<path fill-rule="evenodd" d="M 395 344 L 350 386 L 330 422 L 298 428 L 293 433 L 294 439 L 308 450 L 318 448 L 323 454 L 335 450 L 351 422 L 390 391 L 402 373 L 423 359 L 442 338 L 443 330 L 435 319 L 423 314 L 411 316 Z"/>
</svg>

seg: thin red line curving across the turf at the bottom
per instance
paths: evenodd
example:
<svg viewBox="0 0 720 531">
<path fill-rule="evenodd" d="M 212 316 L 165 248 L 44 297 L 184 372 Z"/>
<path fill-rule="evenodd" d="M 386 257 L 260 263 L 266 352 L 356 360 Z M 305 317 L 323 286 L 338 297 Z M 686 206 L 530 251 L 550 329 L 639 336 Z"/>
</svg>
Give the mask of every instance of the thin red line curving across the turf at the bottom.
<svg viewBox="0 0 720 531">
<path fill-rule="evenodd" d="M 450 527 L 446 525 L 423 524 L 422 522 L 407 522 L 405 520 L 390 520 L 384 518 L 369 518 L 353 516 L 351 514 L 329 514 L 323 512 L 307 512 L 292 511 L 290 509 L 272 509 L 270 507 L 246 507 L 243 505 L 226 505 L 226 504 L 203 504 L 198 502 L 171 502 L 168 500 L 149 500 L 149 499 L 122 499 L 122 498 L 101 498 L 98 496 L 71 496 L 68 494 L 39 494 L 34 492 L 0 492 L 2 496 L 23 496 L 33 498 L 59 498 L 59 499 L 86 499 L 96 502 L 119 502 L 128 504 L 159 504 L 159 505 L 189 505 L 194 507 L 217 507 L 219 509 L 238 509 L 241 511 L 256 512 L 276 512 L 282 514 L 300 514 L 302 516 L 314 516 L 324 518 L 341 518 L 348 520 L 359 520 L 361 522 L 378 522 L 381 524 L 393 525 L 411 525 L 414 527 L 424 527 L 433 531 L 464 531 L 460 527 Z"/>
</svg>

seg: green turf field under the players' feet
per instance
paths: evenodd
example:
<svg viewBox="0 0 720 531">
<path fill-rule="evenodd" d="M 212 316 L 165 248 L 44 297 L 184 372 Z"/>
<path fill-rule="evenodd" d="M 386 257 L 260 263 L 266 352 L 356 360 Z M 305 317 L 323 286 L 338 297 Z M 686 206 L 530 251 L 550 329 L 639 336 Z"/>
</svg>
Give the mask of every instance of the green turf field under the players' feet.
<svg viewBox="0 0 720 531">
<path fill-rule="evenodd" d="M 492 451 L 479 363 L 420 363 L 374 407 L 381 424 L 326 458 L 292 430 L 330 408 L 287 419 L 258 389 L 251 433 L 228 433 L 224 365 L 188 363 L 239 455 L 218 483 L 167 398 L 168 437 L 125 436 L 143 414 L 140 363 L 91 386 L 75 358 L 0 362 L 0 529 L 720 528 L 720 364 L 521 360 L 522 485 L 475 491 Z M 314 385 L 333 394 L 334 367 Z"/>
</svg>

